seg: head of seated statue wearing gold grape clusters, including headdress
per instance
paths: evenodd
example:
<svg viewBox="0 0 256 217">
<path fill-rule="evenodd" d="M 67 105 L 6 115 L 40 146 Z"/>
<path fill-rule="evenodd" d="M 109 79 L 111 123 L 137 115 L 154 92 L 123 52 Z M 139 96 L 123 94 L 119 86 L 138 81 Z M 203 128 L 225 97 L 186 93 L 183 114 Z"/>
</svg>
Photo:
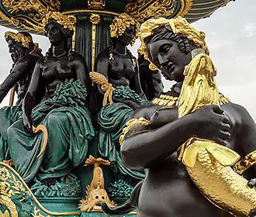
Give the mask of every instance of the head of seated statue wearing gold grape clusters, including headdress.
<svg viewBox="0 0 256 217">
<path fill-rule="evenodd" d="M 135 40 L 137 40 L 139 30 L 139 22 L 130 15 L 122 13 L 112 20 L 110 36 L 112 39 L 116 38 L 116 40 L 119 40 L 123 45 L 133 45 Z"/>
</svg>

